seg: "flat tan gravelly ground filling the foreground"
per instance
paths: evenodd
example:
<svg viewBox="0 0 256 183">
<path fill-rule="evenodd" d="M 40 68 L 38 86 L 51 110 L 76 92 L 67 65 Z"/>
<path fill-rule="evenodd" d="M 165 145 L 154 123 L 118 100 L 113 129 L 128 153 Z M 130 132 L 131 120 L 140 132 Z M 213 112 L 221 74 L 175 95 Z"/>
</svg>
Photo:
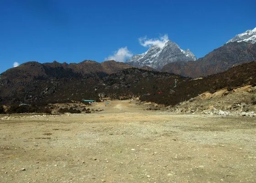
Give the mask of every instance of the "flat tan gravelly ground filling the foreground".
<svg viewBox="0 0 256 183">
<path fill-rule="evenodd" d="M 94 108 L 104 110 L 1 115 L 0 183 L 256 182 L 255 117 Z"/>
</svg>

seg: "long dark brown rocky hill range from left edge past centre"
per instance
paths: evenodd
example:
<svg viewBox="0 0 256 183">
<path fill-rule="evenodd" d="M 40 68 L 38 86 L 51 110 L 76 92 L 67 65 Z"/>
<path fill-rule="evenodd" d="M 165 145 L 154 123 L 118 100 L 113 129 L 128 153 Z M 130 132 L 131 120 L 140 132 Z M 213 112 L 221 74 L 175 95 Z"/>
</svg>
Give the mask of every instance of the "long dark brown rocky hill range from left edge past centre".
<svg viewBox="0 0 256 183">
<path fill-rule="evenodd" d="M 126 69 L 128 68 L 128 69 Z M 64 103 L 81 99 L 123 99 L 157 92 L 179 76 L 133 68 L 125 63 L 28 62 L 0 75 L 0 104 Z"/>
</svg>

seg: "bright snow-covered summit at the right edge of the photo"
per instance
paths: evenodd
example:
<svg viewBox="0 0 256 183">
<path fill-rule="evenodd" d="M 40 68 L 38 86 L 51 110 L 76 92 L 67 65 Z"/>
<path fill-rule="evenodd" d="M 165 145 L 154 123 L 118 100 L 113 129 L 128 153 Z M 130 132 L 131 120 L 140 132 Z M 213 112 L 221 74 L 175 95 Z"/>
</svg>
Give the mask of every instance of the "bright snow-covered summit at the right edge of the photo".
<svg viewBox="0 0 256 183">
<path fill-rule="evenodd" d="M 241 34 L 236 35 L 229 42 L 251 42 L 256 43 L 256 27 L 252 30 L 247 30 Z"/>
</svg>

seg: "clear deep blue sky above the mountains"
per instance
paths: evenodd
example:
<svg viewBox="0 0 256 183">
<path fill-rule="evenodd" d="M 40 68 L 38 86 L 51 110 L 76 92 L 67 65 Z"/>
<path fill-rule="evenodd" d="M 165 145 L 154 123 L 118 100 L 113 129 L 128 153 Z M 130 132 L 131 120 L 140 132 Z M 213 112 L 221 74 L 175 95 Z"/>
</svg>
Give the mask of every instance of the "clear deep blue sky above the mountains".
<svg viewBox="0 0 256 183">
<path fill-rule="evenodd" d="M 255 27 L 255 0 L 0 0 L 0 73 L 15 62 L 141 54 L 145 36 L 168 35 L 201 58 Z"/>
</svg>

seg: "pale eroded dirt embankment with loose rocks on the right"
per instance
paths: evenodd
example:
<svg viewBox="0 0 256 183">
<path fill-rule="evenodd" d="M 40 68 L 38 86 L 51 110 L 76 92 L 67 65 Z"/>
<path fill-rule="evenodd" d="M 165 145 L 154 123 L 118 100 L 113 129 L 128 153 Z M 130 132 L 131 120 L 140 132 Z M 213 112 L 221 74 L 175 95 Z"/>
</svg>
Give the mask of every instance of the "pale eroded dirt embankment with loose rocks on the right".
<svg viewBox="0 0 256 183">
<path fill-rule="evenodd" d="M 256 116 L 256 87 L 246 85 L 237 89 L 205 92 L 176 105 L 176 113 Z"/>
</svg>

